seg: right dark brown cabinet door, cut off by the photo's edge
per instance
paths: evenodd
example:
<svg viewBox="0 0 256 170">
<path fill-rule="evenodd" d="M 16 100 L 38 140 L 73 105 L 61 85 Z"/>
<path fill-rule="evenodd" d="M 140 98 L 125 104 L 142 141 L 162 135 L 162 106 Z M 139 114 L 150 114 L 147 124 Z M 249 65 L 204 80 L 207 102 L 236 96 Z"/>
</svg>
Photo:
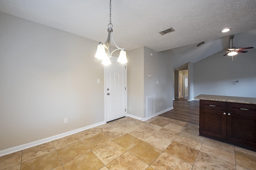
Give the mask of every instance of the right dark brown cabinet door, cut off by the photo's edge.
<svg viewBox="0 0 256 170">
<path fill-rule="evenodd" d="M 227 139 L 256 149 L 256 115 L 228 112 Z"/>
</svg>

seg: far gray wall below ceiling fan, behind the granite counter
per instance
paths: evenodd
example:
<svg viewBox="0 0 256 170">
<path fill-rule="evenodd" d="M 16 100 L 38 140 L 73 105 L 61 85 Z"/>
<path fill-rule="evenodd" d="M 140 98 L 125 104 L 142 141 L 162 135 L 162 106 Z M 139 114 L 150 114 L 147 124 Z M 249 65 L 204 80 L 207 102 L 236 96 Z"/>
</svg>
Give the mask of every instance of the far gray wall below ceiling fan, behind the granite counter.
<svg viewBox="0 0 256 170">
<path fill-rule="evenodd" d="M 256 49 L 233 57 L 212 55 L 194 63 L 194 97 L 199 94 L 256 98 Z M 239 81 L 235 84 L 235 81 Z"/>
</svg>

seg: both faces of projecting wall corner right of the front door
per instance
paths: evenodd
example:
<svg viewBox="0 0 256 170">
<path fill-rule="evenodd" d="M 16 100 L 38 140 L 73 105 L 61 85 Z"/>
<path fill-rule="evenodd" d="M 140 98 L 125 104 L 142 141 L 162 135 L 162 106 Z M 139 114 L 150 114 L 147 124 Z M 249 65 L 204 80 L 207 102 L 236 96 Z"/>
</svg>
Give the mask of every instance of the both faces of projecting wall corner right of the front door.
<svg viewBox="0 0 256 170">
<path fill-rule="evenodd" d="M 153 56 L 150 56 L 150 53 L 153 53 Z M 171 55 L 172 51 L 157 53 L 147 47 L 128 51 L 127 113 L 129 116 L 146 118 L 146 96 L 156 96 L 156 113 L 169 110 L 172 107 L 173 69 Z M 152 74 L 152 77 L 148 77 L 148 74 Z"/>
</svg>

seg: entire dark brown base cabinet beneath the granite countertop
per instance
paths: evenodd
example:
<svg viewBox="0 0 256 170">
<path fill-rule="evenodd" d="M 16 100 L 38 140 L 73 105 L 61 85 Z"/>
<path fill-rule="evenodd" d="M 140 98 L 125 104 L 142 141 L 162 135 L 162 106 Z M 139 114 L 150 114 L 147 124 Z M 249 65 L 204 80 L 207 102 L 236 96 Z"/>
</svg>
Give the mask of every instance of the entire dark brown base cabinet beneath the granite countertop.
<svg viewBox="0 0 256 170">
<path fill-rule="evenodd" d="M 200 100 L 199 134 L 256 151 L 256 105 Z"/>
</svg>

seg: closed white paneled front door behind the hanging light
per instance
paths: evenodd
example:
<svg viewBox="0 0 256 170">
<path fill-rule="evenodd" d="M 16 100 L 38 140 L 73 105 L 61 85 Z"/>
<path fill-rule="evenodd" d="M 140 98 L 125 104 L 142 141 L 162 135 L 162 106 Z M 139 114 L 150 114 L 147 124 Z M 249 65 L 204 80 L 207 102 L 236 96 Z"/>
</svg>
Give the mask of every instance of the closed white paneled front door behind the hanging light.
<svg viewBox="0 0 256 170">
<path fill-rule="evenodd" d="M 106 66 L 106 121 L 126 115 L 126 64 L 110 58 Z"/>
</svg>

